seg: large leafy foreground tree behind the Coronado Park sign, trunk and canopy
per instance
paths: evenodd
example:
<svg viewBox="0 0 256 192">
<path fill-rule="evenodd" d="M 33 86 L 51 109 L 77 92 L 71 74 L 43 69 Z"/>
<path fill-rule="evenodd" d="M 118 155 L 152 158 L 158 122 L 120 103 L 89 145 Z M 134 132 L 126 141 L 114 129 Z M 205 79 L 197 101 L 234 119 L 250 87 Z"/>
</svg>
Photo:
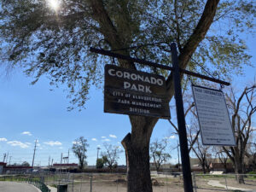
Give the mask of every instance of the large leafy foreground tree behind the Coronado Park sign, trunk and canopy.
<svg viewBox="0 0 256 192">
<path fill-rule="evenodd" d="M 169 45 L 177 42 L 179 66 L 199 73 L 205 73 L 202 67 L 207 64 L 222 75 L 240 73 L 241 65 L 249 63 L 240 38 L 243 30 L 253 29 L 255 8 L 247 0 L 61 2 L 58 9 L 52 9 L 45 0 L 1 1 L 0 58 L 9 67 L 23 67 L 35 77 L 32 84 L 43 75 L 50 84 L 67 84 L 70 109 L 83 108 L 90 85 L 101 85 L 102 66 L 107 61 L 88 49 L 102 38 L 109 49 L 124 55 L 132 55 L 131 49 L 124 48 L 165 42 L 166 46 L 142 47 L 137 56 L 166 65 L 172 63 Z M 165 75 L 168 100 L 172 99 L 172 73 L 123 60 L 117 65 Z M 129 166 L 127 188 L 129 192 L 152 192 L 149 143 L 158 119 L 129 118 L 131 133 L 122 142 Z"/>
</svg>

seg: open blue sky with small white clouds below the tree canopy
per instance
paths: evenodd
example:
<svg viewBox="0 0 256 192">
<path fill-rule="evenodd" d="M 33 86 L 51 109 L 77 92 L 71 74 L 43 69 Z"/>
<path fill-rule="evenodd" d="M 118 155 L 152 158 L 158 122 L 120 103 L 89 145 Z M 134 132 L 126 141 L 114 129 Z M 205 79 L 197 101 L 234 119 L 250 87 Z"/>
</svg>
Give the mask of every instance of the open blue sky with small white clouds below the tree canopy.
<svg viewBox="0 0 256 192">
<path fill-rule="evenodd" d="M 256 39 L 248 37 L 247 42 L 253 55 L 256 52 Z M 252 63 L 255 66 L 255 55 Z M 234 77 L 233 84 L 239 88 L 253 81 L 255 76 L 256 68 L 246 67 L 245 75 Z M 19 68 L 9 73 L 9 76 L 2 75 L 0 79 L 0 161 L 3 160 L 3 154 L 9 153 L 11 163 L 26 160 L 31 164 L 34 141 L 38 139 L 35 165 L 48 165 L 49 156 L 54 162 L 60 163 L 61 153 L 67 156 L 73 141 L 83 136 L 90 144 L 87 161 L 89 165 L 94 165 L 97 146 L 102 147 L 103 143 L 120 146 L 121 140 L 131 131 L 127 115 L 103 113 L 102 90 L 90 90 L 86 109 L 67 112 L 70 103 L 63 87 L 50 90 L 52 87 L 45 78 L 35 85 L 30 85 L 30 82 L 32 79 L 22 74 Z M 255 126 L 255 116 L 253 122 Z M 171 125 L 167 120 L 160 119 L 151 140 L 170 136 Z M 177 137 L 170 138 L 170 145 L 176 143 Z M 172 163 L 177 162 L 176 152 L 176 149 L 171 151 Z M 78 162 L 73 153 L 70 154 L 69 162 Z M 119 159 L 119 165 L 123 164 L 124 153 L 120 154 Z"/>
</svg>

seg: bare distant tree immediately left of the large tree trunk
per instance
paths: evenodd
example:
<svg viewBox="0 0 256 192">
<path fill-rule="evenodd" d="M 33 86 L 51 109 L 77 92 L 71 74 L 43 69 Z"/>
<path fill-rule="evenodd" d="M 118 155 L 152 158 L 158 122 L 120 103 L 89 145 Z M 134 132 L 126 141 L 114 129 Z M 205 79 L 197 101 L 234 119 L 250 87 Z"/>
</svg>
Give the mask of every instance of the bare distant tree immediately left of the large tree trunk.
<svg viewBox="0 0 256 192">
<path fill-rule="evenodd" d="M 117 160 L 119 159 L 119 154 L 123 151 L 119 146 L 113 146 L 112 144 L 104 143 L 105 152 L 102 152 L 103 163 L 112 170 L 118 165 Z"/>
</svg>

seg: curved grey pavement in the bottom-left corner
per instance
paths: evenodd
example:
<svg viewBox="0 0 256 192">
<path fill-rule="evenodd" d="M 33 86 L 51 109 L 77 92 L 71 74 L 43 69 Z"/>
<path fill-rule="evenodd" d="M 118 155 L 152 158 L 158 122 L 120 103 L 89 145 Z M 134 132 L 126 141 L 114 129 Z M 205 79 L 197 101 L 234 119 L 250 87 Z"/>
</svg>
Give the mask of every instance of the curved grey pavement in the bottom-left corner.
<svg viewBox="0 0 256 192">
<path fill-rule="evenodd" d="M 41 192 L 31 184 L 16 182 L 0 182 L 1 192 Z"/>
</svg>

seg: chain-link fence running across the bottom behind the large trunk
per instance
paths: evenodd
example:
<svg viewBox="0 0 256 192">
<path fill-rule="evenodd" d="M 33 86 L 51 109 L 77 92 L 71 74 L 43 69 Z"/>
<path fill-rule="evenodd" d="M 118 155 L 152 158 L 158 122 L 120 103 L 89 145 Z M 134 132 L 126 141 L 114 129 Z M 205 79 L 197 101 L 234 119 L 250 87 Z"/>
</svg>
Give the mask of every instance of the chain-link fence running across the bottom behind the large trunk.
<svg viewBox="0 0 256 192">
<path fill-rule="evenodd" d="M 117 173 L 41 173 L 26 176 L 35 183 L 57 187 L 66 185 L 68 192 L 126 192 L 126 175 Z M 152 185 L 154 192 L 183 192 L 183 177 L 181 173 L 153 173 Z M 254 191 L 256 192 L 256 175 L 236 174 L 199 174 L 192 173 L 195 192 L 216 191 Z M 237 183 L 236 178 L 242 178 L 244 183 Z M 3 179 L 3 177 L 1 178 Z M 14 177 L 5 178 L 6 180 Z M 28 181 L 28 180 L 26 180 Z M 33 184 L 33 183 L 32 183 Z M 38 187 L 39 188 L 39 187 Z M 43 191 L 43 190 L 42 190 Z"/>
</svg>

